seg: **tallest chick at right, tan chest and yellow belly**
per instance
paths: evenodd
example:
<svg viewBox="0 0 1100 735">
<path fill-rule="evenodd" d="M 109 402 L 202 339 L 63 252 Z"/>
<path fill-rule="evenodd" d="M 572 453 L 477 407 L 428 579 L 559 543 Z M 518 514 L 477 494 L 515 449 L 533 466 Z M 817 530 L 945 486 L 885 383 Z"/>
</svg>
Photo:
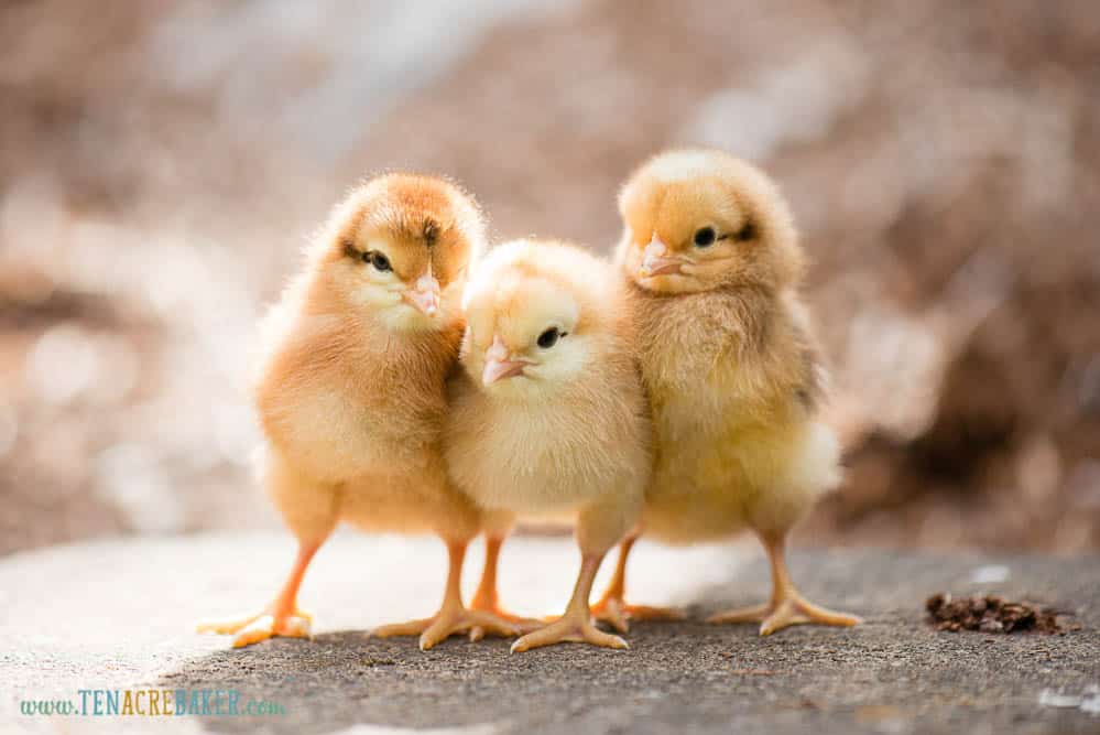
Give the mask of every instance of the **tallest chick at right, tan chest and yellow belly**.
<svg viewBox="0 0 1100 735">
<path fill-rule="evenodd" d="M 643 164 L 619 209 L 618 261 L 654 420 L 644 532 L 672 543 L 743 529 L 760 538 L 771 601 L 714 623 L 759 621 L 761 635 L 854 625 L 806 601 L 784 560 L 791 528 L 840 480 L 839 447 L 818 414 L 825 376 L 797 293 L 803 253 L 786 203 L 752 165 L 687 150 Z M 617 582 L 605 603 L 623 608 Z"/>
</svg>

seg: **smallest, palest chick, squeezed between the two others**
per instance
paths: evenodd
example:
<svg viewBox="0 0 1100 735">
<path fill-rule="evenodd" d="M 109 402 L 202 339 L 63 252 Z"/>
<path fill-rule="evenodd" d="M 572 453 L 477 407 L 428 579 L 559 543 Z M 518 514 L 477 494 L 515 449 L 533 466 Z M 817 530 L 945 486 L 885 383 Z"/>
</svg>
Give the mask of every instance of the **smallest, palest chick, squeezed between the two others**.
<svg viewBox="0 0 1100 735">
<path fill-rule="evenodd" d="M 444 431 L 451 478 L 489 511 L 575 518 L 581 554 L 565 615 L 513 651 L 627 647 L 592 625 L 588 606 L 603 556 L 638 522 L 651 468 L 622 296 L 610 264 L 533 240 L 494 249 L 467 293 L 465 374 Z"/>
</svg>

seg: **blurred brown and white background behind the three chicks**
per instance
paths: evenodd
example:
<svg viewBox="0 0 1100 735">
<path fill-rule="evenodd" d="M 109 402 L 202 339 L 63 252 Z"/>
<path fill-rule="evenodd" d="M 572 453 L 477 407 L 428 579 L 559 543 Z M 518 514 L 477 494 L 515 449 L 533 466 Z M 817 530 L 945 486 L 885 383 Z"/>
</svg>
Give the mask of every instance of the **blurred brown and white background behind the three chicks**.
<svg viewBox="0 0 1100 735">
<path fill-rule="evenodd" d="M 0 553 L 276 527 L 254 324 L 446 172 L 607 250 L 678 144 L 792 201 L 849 479 L 805 542 L 1100 547 L 1100 4 L 0 2 Z"/>
</svg>

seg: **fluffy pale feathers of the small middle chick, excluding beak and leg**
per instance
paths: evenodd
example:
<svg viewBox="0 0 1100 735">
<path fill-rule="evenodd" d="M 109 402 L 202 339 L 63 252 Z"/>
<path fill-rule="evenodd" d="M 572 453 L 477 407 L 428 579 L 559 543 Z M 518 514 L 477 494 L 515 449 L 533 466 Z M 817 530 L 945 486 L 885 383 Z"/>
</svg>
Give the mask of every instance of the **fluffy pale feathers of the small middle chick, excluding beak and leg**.
<svg viewBox="0 0 1100 735">
<path fill-rule="evenodd" d="M 525 514 L 575 511 L 593 493 L 636 485 L 645 404 L 621 281 L 607 263 L 562 244 L 513 241 L 486 258 L 468 301 L 446 434 L 456 482 L 482 507 Z M 552 326 L 568 334 L 541 350 L 535 341 Z M 494 334 L 541 364 L 486 389 Z"/>
</svg>

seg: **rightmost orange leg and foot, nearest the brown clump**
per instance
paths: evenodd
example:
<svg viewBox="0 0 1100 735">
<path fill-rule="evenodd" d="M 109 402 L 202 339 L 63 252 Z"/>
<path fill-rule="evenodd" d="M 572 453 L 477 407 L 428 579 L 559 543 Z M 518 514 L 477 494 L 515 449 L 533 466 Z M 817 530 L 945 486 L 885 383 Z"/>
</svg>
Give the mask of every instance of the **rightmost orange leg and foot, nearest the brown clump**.
<svg viewBox="0 0 1100 735">
<path fill-rule="evenodd" d="M 772 565 L 772 599 L 766 605 L 718 613 L 707 623 L 760 623 L 760 635 L 769 636 L 791 625 L 817 624 L 849 627 L 862 623 L 854 615 L 837 613 L 809 602 L 795 588 L 787 571 L 784 533 L 762 533 L 761 542 Z"/>
</svg>

